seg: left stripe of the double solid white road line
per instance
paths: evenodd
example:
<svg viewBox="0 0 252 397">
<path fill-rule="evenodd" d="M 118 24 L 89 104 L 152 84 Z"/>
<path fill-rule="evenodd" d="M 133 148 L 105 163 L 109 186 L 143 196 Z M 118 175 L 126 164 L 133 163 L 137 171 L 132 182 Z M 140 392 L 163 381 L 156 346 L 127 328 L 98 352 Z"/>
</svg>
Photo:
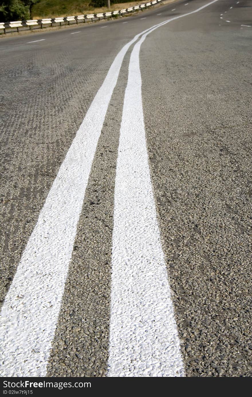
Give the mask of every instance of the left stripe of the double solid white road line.
<svg viewBox="0 0 252 397">
<path fill-rule="evenodd" d="M 1 376 L 46 376 L 77 222 L 108 104 L 125 53 L 149 29 L 115 57 L 39 214 L 2 306 Z"/>
</svg>

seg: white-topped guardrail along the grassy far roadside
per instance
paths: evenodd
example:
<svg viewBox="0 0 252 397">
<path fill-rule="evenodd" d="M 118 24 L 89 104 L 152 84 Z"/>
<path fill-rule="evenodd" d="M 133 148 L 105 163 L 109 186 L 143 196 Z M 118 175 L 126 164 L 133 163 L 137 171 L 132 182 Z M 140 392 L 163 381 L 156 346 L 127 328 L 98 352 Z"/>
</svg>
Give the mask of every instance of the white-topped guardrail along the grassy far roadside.
<svg viewBox="0 0 252 397">
<path fill-rule="evenodd" d="M 76 16 L 72 16 L 72 17 L 59 17 L 59 18 L 47 18 L 47 19 L 30 19 L 27 21 L 13 21 L 13 22 L 6 22 L 6 23 L 0 23 L 0 33 L 1 30 L 4 31 L 4 33 L 6 34 L 6 29 L 12 29 L 12 28 L 16 28 L 17 32 L 19 32 L 19 28 L 23 28 L 23 27 L 29 27 L 30 30 L 33 29 L 34 27 L 40 27 L 41 29 L 43 29 L 43 27 L 48 27 L 48 25 L 50 25 L 50 27 L 52 26 L 62 26 L 62 23 L 64 23 L 64 25 L 68 24 L 73 24 L 74 23 L 80 23 L 80 22 L 88 22 L 88 21 L 100 21 L 100 19 L 106 19 L 106 18 L 113 18 L 113 16 L 117 15 L 117 16 L 123 16 L 126 13 L 131 13 L 131 12 L 135 12 L 135 11 L 139 11 L 142 10 L 144 8 L 148 8 L 150 6 L 153 6 L 154 4 L 160 3 L 162 2 L 162 0 L 154 0 L 148 3 L 144 3 L 144 4 L 140 4 L 139 6 L 135 6 L 135 7 L 129 7 L 129 8 L 125 8 L 123 10 L 120 11 L 112 11 L 112 12 L 104 12 L 104 13 L 96 13 L 96 14 L 85 14 L 85 15 L 76 15 Z M 24 29 L 22 29 L 24 30 Z"/>
</svg>

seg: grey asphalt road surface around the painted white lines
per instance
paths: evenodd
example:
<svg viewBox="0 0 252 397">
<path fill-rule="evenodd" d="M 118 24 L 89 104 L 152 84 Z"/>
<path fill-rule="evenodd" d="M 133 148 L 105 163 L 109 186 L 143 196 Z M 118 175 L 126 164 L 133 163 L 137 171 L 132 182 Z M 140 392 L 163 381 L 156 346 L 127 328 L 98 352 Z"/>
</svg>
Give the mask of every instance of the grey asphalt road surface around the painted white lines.
<svg viewBox="0 0 252 397">
<path fill-rule="evenodd" d="M 0 40 L 2 303 L 116 55 L 140 32 L 206 4 Z M 185 376 L 252 376 L 251 39 L 251 2 L 219 0 L 158 27 L 140 47 L 150 179 Z M 92 161 L 47 376 L 108 372 L 117 152 L 134 44 Z M 151 354 L 147 361 L 154 365 Z"/>
</svg>

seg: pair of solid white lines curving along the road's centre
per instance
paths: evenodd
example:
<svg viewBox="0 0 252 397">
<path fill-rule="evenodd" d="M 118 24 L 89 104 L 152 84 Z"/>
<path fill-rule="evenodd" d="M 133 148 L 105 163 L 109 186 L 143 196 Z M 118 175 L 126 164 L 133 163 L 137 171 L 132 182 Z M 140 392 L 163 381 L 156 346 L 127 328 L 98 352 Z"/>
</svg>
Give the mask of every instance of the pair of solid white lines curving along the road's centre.
<svg viewBox="0 0 252 397">
<path fill-rule="evenodd" d="M 158 27 L 216 1 L 146 29 L 115 57 L 60 167 L 6 295 L 0 318 L 1 376 L 46 376 L 96 146 L 123 58 L 140 36 L 129 64 L 117 160 L 108 376 L 183 376 L 148 168 L 139 50 Z"/>
</svg>

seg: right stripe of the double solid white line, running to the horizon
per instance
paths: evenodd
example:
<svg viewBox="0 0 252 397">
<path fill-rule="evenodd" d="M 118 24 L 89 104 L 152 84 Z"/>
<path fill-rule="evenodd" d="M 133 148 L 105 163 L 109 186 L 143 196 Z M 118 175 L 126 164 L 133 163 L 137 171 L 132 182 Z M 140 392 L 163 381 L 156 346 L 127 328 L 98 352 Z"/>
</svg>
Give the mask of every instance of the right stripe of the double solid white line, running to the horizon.
<svg viewBox="0 0 252 397">
<path fill-rule="evenodd" d="M 184 375 L 148 166 L 139 51 L 150 32 L 194 12 L 153 27 L 131 53 L 115 178 L 108 377 Z"/>
</svg>

